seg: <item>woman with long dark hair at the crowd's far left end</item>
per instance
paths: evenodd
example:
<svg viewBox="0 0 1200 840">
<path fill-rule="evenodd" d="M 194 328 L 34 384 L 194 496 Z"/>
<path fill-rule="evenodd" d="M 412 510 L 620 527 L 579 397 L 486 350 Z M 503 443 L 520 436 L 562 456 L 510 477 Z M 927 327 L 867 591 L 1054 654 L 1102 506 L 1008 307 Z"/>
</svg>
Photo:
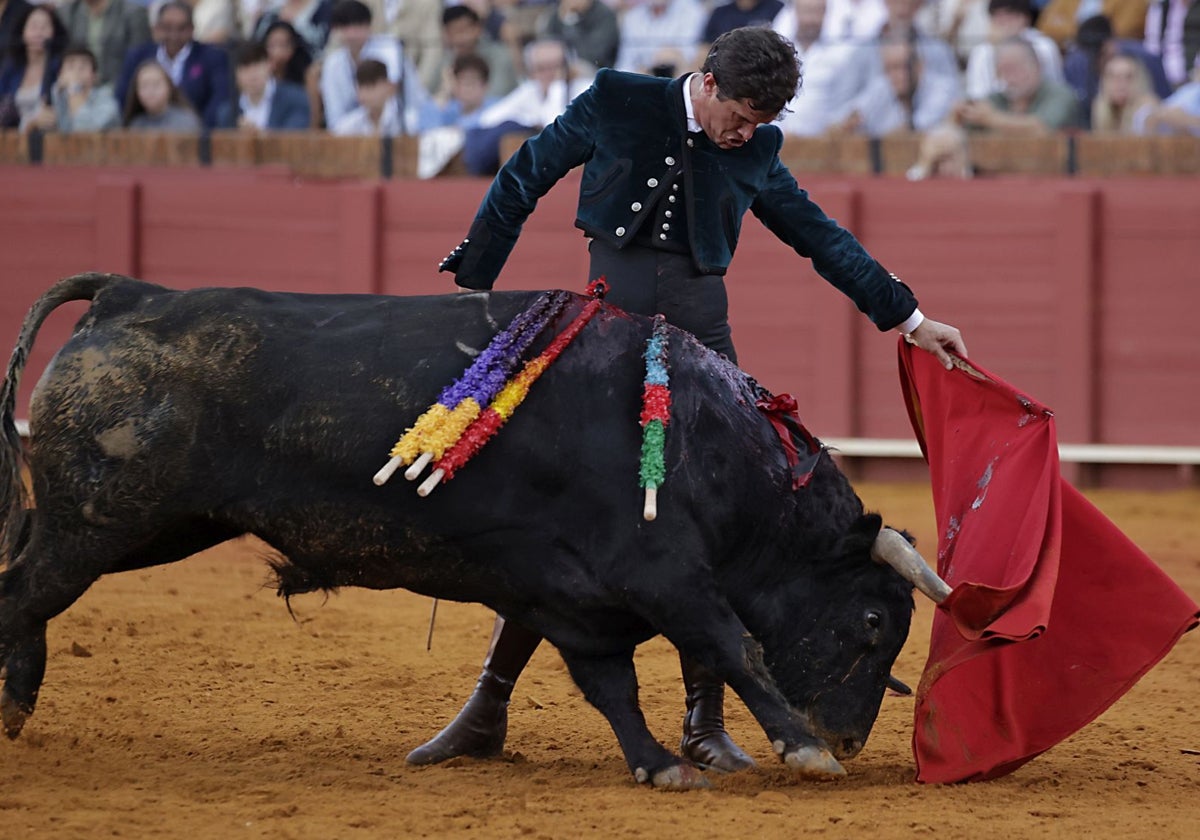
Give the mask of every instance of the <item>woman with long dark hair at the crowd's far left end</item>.
<svg viewBox="0 0 1200 840">
<path fill-rule="evenodd" d="M 50 119 L 50 91 L 66 46 L 67 31 L 53 6 L 25 10 L 0 66 L 0 128 L 25 131 L 35 119 Z"/>
</svg>

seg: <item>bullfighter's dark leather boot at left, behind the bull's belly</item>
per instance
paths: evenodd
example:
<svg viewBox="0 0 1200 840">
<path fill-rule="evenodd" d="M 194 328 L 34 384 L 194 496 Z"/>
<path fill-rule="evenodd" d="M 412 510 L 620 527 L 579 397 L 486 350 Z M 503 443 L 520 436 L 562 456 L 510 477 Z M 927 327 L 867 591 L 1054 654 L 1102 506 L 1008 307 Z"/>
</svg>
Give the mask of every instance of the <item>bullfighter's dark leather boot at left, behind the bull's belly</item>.
<svg viewBox="0 0 1200 840">
<path fill-rule="evenodd" d="M 499 755 L 509 730 L 512 686 L 539 642 L 541 636 L 538 634 L 497 616 L 492 644 L 484 659 L 484 672 L 467 704 L 449 726 L 409 752 L 404 761 L 409 764 L 437 764 L 455 756 L 487 758 Z"/>
</svg>

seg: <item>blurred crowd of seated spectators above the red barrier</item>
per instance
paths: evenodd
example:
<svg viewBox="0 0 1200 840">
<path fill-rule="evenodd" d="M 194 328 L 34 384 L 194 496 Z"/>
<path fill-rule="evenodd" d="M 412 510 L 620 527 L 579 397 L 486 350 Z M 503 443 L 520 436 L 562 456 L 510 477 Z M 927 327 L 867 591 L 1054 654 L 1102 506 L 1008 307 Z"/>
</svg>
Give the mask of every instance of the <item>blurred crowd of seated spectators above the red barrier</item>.
<svg viewBox="0 0 1200 840">
<path fill-rule="evenodd" d="M 1200 137 L 1200 0 L 0 0 L 0 128 L 420 134 L 470 172 L 600 67 L 680 76 L 772 26 L 803 60 L 787 134 Z"/>
</svg>

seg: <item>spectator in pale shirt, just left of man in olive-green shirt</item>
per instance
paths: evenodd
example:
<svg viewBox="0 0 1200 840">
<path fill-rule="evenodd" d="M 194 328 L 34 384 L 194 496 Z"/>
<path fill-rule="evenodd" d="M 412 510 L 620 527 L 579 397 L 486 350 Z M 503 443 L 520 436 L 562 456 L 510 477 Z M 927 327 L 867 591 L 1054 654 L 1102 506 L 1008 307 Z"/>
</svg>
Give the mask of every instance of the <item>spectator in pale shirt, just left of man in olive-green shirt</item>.
<svg viewBox="0 0 1200 840">
<path fill-rule="evenodd" d="M 958 76 L 930 73 L 917 46 L 907 40 L 880 44 L 883 74 L 875 76 L 838 126 L 868 137 L 895 131 L 929 131 L 948 118 L 960 97 Z"/>
</svg>

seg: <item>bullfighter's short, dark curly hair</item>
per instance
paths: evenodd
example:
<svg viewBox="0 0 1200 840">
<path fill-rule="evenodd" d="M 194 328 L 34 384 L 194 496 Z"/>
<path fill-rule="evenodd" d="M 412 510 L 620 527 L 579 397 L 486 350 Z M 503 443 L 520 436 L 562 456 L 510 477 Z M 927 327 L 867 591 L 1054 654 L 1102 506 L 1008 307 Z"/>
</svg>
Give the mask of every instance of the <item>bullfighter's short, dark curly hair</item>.
<svg viewBox="0 0 1200 840">
<path fill-rule="evenodd" d="M 716 79 L 721 100 L 745 100 L 763 114 L 784 110 L 800 84 L 796 47 L 766 26 L 731 29 L 713 42 L 702 73 Z"/>
</svg>

